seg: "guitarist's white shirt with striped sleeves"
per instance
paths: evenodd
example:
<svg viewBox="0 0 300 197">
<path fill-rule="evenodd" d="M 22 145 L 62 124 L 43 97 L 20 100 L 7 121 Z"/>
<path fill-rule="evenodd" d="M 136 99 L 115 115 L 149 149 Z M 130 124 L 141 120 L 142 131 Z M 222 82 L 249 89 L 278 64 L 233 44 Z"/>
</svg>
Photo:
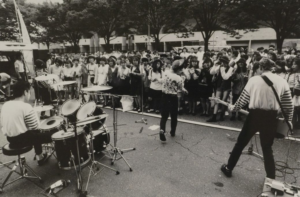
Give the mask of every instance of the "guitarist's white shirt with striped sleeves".
<svg viewBox="0 0 300 197">
<path fill-rule="evenodd" d="M 291 91 L 286 80 L 271 72 L 263 73 L 263 75 L 267 76 L 273 82 L 273 86 L 278 93 L 283 110 L 288 116 L 288 120 L 292 121 L 294 107 L 292 105 Z M 272 88 L 269 87 L 260 76 L 254 76 L 249 79 L 241 96 L 234 105 L 229 107 L 229 109 L 232 112 L 236 112 L 247 103 L 249 103 L 249 109 L 280 109 Z"/>
</svg>

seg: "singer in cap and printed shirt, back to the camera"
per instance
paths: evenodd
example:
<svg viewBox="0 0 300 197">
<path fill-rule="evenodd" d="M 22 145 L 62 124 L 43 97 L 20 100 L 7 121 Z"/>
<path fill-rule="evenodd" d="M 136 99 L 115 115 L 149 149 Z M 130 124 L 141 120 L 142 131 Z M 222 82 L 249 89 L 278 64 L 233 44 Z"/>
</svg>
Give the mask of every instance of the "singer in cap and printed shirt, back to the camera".
<svg viewBox="0 0 300 197">
<path fill-rule="evenodd" d="M 161 107 L 161 130 L 159 132 L 159 138 L 161 141 L 166 141 L 164 133 L 166 132 L 166 122 L 171 114 L 171 137 L 175 136 L 176 126 L 177 126 L 177 114 L 178 114 L 178 91 L 188 93 L 184 89 L 180 73 L 184 69 L 184 60 L 175 60 L 170 68 L 166 70 L 163 76 L 162 85 L 162 107 Z"/>
</svg>

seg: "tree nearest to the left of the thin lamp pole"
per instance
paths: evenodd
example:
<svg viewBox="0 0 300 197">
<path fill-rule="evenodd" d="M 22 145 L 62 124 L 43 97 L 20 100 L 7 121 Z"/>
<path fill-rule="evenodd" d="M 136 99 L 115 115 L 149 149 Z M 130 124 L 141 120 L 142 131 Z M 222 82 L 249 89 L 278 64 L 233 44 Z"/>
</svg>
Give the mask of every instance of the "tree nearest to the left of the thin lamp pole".
<svg viewBox="0 0 300 197">
<path fill-rule="evenodd" d="M 89 5 L 87 11 L 92 14 L 92 30 L 104 38 L 105 48 L 110 50 L 110 41 L 130 28 L 129 4 L 123 0 L 93 0 Z"/>
</svg>

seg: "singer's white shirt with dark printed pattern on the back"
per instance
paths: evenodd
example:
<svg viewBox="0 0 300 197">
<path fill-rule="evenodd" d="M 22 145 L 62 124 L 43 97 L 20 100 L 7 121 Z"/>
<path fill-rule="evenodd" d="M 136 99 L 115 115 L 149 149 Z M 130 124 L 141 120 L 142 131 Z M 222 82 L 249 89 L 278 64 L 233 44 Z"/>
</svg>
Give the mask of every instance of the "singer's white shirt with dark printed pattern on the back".
<svg viewBox="0 0 300 197">
<path fill-rule="evenodd" d="M 171 73 L 166 70 L 163 75 L 162 90 L 165 94 L 177 94 L 178 91 L 182 90 L 181 76 Z"/>
</svg>

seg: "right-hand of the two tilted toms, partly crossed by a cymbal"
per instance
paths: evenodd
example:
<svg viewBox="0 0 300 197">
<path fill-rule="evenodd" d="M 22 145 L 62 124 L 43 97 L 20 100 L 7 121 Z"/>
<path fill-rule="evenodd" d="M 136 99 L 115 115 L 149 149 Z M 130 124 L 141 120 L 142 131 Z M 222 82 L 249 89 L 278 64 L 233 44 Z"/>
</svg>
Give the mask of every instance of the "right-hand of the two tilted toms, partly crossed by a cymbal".
<svg viewBox="0 0 300 197">
<path fill-rule="evenodd" d="M 104 111 L 96 105 L 94 101 L 88 101 L 83 104 L 77 112 L 77 119 L 82 120 L 89 116 L 97 116 L 104 114 Z M 92 130 L 99 129 L 106 122 L 106 117 L 91 123 Z M 87 125 L 89 127 L 89 125 Z"/>
</svg>

